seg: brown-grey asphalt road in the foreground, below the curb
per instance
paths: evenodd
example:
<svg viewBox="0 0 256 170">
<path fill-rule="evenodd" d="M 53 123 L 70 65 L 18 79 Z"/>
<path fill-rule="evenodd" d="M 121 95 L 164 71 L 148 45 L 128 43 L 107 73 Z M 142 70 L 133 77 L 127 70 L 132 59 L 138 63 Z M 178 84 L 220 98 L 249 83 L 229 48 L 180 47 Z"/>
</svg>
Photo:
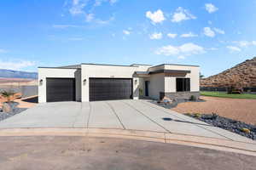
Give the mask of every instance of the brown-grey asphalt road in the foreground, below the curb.
<svg viewBox="0 0 256 170">
<path fill-rule="evenodd" d="M 88 137 L 0 137 L 1 170 L 255 169 L 256 157 L 178 144 Z"/>
</svg>

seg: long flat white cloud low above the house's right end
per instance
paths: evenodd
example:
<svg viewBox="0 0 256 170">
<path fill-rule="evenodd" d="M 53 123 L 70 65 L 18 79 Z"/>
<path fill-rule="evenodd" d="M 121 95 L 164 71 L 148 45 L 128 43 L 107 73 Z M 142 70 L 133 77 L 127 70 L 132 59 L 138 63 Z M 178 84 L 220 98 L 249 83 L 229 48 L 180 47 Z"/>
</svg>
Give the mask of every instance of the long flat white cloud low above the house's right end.
<svg viewBox="0 0 256 170">
<path fill-rule="evenodd" d="M 158 48 L 155 51 L 155 54 L 162 54 L 166 56 L 177 56 L 178 58 L 184 58 L 185 56 L 189 56 L 192 54 L 202 54 L 205 50 L 199 45 L 196 45 L 195 43 L 189 42 L 184 43 L 181 46 L 172 46 L 167 45 L 161 48 Z"/>
</svg>

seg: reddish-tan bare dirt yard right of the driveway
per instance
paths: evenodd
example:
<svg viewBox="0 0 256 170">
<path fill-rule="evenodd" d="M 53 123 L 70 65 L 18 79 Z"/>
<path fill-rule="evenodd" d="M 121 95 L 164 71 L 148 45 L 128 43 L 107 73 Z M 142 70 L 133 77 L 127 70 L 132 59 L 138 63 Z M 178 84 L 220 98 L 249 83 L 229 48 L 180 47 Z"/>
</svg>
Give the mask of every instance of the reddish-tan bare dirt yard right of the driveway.
<svg viewBox="0 0 256 170">
<path fill-rule="evenodd" d="M 256 99 L 226 99 L 201 96 L 204 102 L 178 104 L 173 111 L 179 113 L 217 113 L 241 122 L 256 125 Z"/>
</svg>

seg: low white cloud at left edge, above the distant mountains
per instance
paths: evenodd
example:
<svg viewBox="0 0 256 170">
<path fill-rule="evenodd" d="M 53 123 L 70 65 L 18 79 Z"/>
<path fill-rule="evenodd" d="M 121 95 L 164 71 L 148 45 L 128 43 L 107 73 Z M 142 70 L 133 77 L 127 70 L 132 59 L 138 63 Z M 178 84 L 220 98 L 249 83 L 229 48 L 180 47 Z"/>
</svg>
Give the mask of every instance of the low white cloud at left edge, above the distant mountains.
<svg viewBox="0 0 256 170">
<path fill-rule="evenodd" d="M 27 60 L 3 61 L 3 60 L 0 60 L 0 69 L 9 69 L 9 70 L 20 71 L 23 68 L 26 68 L 28 66 L 33 66 L 33 65 L 35 65 L 34 61 L 27 61 Z"/>
</svg>

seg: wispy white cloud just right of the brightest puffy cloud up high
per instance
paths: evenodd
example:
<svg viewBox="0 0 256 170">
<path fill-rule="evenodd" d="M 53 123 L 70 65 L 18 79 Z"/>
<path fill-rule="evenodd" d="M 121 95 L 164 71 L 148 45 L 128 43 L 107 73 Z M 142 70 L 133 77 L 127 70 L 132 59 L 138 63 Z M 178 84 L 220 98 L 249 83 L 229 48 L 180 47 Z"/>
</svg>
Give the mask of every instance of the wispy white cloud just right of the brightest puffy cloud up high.
<svg viewBox="0 0 256 170">
<path fill-rule="evenodd" d="M 182 20 L 195 20 L 196 17 L 189 13 L 189 10 L 178 7 L 176 12 L 172 15 L 172 22 L 180 22 Z"/>
</svg>

